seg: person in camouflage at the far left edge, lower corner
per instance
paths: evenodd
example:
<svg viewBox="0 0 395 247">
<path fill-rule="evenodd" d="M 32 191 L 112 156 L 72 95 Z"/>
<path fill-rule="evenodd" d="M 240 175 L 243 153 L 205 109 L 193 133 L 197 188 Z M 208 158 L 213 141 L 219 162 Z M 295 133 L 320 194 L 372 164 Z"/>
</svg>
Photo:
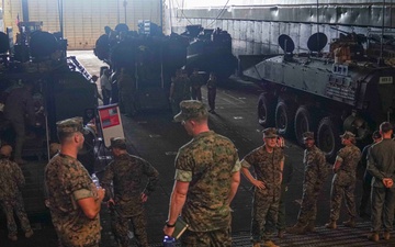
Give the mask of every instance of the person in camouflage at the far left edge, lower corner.
<svg viewBox="0 0 395 247">
<path fill-rule="evenodd" d="M 18 240 L 14 212 L 20 220 L 25 237 L 31 237 L 33 231 L 24 210 L 21 193 L 25 179 L 18 164 L 10 160 L 11 151 L 11 146 L 2 146 L 0 149 L 0 206 L 5 214 L 8 237 L 11 240 Z"/>
</svg>

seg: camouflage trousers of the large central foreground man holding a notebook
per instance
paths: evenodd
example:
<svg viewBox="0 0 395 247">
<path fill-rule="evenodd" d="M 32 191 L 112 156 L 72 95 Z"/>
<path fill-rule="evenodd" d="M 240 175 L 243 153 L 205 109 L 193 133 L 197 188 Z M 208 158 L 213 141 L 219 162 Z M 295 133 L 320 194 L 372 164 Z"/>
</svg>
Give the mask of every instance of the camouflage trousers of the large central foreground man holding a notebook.
<svg viewBox="0 0 395 247">
<path fill-rule="evenodd" d="M 182 247 L 230 247 L 230 226 L 211 232 L 185 231 L 181 237 Z"/>
</svg>

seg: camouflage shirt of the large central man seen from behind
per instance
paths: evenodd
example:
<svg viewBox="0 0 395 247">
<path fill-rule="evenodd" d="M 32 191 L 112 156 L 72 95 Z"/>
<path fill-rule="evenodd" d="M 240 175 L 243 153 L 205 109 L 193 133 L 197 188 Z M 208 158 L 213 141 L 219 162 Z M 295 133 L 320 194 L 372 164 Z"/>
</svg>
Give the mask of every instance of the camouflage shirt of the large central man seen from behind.
<svg viewBox="0 0 395 247">
<path fill-rule="evenodd" d="M 176 169 L 176 180 L 190 182 L 182 209 L 190 229 L 207 232 L 228 227 L 232 178 L 240 170 L 235 145 L 213 131 L 201 133 L 180 148 Z"/>
</svg>

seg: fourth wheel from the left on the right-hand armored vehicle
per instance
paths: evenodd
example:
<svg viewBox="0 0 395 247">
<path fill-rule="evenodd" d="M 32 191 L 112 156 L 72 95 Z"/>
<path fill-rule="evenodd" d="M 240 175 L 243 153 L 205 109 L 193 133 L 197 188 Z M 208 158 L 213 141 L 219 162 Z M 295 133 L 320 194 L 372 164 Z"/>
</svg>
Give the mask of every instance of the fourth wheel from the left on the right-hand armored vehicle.
<svg viewBox="0 0 395 247">
<path fill-rule="evenodd" d="M 325 153 L 327 161 L 332 162 L 340 149 L 340 123 L 335 116 L 324 117 L 317 130 L 317 146 Z"/>
</svg>

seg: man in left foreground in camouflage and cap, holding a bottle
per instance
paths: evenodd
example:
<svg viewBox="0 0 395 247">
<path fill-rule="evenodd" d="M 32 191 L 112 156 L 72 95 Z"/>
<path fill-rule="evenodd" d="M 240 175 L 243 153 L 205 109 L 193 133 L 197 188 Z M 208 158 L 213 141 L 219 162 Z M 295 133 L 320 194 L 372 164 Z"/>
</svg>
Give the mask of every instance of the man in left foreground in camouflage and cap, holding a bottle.
<svg viewBox="0 0 395 247">
<path fill-rule="evenodd" d="M 100 243 L 100 204 L 104 192 L 97 189 L 77 153 L 83 145 L 82 119 L 74 117 L 57 122 L 60 151 L 45 168 L 45 186 L 50 216 L 59 242 L 64 247 L 98 247 Z M 75 142 L 78 138 L 78 143 Z M 70 141 L 72 139 L 72 141 Z M 69 151 L 74 145 L 75 154 Z M 84 205 L 94 207 L 82 209 Z M 87 215 L 84 210 L 95 212 Z"/>
</svg>

